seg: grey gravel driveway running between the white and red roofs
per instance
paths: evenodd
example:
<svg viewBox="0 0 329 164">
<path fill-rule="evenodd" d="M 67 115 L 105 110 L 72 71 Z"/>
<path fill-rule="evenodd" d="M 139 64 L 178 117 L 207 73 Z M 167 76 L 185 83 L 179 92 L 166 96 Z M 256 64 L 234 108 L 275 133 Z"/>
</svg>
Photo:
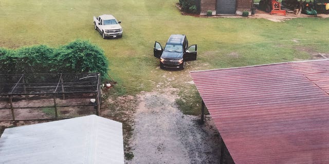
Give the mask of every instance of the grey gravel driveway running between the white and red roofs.
<svg viewBox="0 0 329 164">
<path fill-rule="evenodd" d="M 184 115 L 175 104 L 177 89 L 143 92 L 130 140 L 134 158 L 126 163 L 219 163 L 220 136 L 209 117 Z M 161 93 L 161 94 L 159 94 Z"/>
</svg>

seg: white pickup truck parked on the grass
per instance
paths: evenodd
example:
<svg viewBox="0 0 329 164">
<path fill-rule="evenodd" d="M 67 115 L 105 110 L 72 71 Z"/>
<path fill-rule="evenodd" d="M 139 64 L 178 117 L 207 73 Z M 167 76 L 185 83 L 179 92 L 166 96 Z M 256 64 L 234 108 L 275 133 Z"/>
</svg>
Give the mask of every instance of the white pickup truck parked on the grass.
<svg viewBox="0 0 329 164">
<path fill-rule="evenodd" d="M 94 16 L 95 30 L 98 30 L 103 38 L 106 37 L 122 37 L 122 27 L 119 25 L 121 21 L 113 15 L 103 14 L 98 17 Z"/>
</svg>

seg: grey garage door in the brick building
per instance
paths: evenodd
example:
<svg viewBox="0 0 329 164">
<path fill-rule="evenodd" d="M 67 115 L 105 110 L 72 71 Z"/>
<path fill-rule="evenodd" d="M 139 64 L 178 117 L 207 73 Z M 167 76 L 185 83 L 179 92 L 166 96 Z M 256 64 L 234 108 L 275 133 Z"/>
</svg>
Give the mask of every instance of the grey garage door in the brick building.
<svg viewBox="0 0 329 164">
<path fill-rule="evenodd" d="M 236 0 L 217 0 L 216 14 L 235 14 Z"/>
</svg>

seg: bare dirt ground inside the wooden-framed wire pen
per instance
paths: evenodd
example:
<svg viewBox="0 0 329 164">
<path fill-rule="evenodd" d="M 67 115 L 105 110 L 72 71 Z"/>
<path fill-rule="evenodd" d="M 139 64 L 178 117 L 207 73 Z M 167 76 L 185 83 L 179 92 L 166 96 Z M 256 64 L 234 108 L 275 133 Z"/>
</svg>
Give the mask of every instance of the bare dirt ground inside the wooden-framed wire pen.
<svg viewBox="0 0 329 164">
<path fill-rule="evenodd" d="M 75 98 L 68 94 L 64 99 L 56 98 L 58 117 L 68 118 L 96 114 L 90 98 L 95 97 L 92 94 L 84 94 L 80 98 Z M 13 96 L 12 106 L 15 120 L 56 118 L 54 99 L 48 95 Z M 0 121 L 13 120 L 10 107 L 9 97 L 1 97 L 0 108 L 3 109 L 0 111 Z"/>
</svg>

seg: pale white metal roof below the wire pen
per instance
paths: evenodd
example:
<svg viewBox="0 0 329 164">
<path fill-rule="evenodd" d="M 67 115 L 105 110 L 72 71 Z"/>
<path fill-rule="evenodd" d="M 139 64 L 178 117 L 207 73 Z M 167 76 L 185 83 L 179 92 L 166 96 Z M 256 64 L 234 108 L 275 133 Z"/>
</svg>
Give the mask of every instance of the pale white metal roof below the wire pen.
<svg viewBox="0 0 329 164">
<path fill-rule="evenodd" d="M 124 163 L 122 124 L 89 115 L 8 128 L 0 163 Z"/>
</svg>

